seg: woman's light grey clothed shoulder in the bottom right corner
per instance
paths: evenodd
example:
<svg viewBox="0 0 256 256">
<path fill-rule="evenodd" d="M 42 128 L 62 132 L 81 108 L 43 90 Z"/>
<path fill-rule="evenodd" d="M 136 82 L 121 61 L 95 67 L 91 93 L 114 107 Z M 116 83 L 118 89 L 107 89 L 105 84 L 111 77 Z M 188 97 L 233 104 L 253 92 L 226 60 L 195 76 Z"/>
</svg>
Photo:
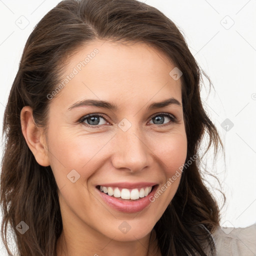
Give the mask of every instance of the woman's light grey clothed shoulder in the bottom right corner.
<svg viewBox="0 0 256 256">
<path fill-rule="evenodd" d="M 217 227 L 212 233 L 217 255 L 256 255 L 256 223 L 247 227 Z"/>
</svg>

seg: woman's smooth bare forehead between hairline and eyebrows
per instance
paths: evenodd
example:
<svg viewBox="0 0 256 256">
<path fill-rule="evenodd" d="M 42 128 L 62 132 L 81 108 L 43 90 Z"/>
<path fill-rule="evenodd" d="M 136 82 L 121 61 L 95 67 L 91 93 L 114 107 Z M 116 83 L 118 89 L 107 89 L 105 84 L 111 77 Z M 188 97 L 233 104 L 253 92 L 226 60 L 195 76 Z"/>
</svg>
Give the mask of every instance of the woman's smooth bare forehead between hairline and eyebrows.
<svg viewBox="0 0 256 256">
<path fill-rule="evenodd" d="M 57 97 L 62 104 L 84 98 L 130 103 L 181 99 L 181 81 L 169 74 L 174 67 L 167 56 L 145 43 L 94 41 L 68 59 Z"/>
</svg>

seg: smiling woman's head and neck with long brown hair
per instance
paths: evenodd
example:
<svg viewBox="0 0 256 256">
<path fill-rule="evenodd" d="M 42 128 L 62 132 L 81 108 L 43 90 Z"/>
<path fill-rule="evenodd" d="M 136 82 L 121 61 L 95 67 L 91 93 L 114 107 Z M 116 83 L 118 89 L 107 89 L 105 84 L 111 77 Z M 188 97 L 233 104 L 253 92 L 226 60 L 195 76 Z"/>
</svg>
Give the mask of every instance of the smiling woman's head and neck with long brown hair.
<svg viewBox="0 0 256 256">
<path fill-rule="evenodd" d="M 145 3 L 50 10 L 4 113 L 2 235 L 10 224 L 18 255 L 215 255 L 219 207 L 197 152 L 204 135 L 215 153 L 222 143 L 201 74 L 174 23 Z"/>
</svg>

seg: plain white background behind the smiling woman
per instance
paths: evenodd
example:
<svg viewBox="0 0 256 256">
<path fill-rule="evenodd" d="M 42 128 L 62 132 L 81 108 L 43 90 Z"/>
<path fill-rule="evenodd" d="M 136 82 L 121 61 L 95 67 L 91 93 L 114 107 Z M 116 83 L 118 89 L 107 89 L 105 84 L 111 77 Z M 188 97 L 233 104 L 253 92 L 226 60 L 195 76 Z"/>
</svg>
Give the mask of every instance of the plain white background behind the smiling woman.
<svg viewBox="0 0 256 256">
<path fill-rule="evenodd" d="M 212 167 L 211 157 L 207 156 L 208 170 L 217 175 L 227 197 L 221 224 L 251 225 L 256 221 L 256 0 L 143 1 L 158 8 L 179 27 L 196 61 L 213 83 L 215 90 L 206 99 L 205 80 L 206 90 L 202 89 L 201 96 L 225 146 L 225 165 L 223 157 L 218 157 Z M 0 0 L 1 126 L 25 41 L 36 23 L 58 2 Z M 21 29 L 22 25 L 27 26 Z M 226 118 L 233 127 L 226 122 L 222 126 L 229 126 L 222 128 Z M 212 178 L 206 178 L 217 187 Z M 216 196 L 221 204 L 219 193 Z"/>
</svg>

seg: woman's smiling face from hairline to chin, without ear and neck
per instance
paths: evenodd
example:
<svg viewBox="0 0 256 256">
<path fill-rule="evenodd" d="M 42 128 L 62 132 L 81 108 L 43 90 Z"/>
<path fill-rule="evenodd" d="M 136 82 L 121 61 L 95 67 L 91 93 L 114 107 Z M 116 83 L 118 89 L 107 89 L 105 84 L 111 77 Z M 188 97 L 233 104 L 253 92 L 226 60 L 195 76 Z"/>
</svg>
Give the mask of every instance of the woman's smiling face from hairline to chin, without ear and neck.
<svg viewBox="0 0 256 256">
<path fill-rule="evenodd" d="M 63 230 L 132 241 L 163 214 L 187 148 L 174 67 L 144 43 L 94 41 L 68 61 L 46 141 Z"/>
</svg>

